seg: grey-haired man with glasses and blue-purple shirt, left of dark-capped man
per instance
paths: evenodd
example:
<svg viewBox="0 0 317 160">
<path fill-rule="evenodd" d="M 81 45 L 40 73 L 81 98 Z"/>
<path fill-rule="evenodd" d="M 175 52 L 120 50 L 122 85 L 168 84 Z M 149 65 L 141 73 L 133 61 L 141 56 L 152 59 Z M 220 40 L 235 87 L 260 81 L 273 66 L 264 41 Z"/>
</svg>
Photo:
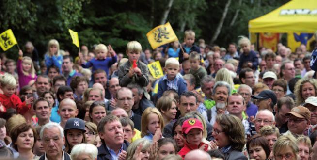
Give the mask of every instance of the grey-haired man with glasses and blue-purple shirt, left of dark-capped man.
<svg viewBox="0 0 317 160">
<path fill-rule="evenodd" d="M 249 117 L 255 117 L 258 107 L 251 102 L 252 89 L 246 84 L 241 84 L 238 88 L 238 94 L 240 94 L 247 105 L 246 113 Z"/>
</svg>

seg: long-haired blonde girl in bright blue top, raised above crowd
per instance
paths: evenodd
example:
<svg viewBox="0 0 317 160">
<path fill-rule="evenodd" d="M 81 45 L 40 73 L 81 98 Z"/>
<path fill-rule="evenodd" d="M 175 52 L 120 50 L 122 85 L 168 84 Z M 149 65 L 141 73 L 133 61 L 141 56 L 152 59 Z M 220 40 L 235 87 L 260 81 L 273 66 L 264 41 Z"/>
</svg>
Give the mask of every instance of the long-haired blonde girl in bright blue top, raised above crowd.
<svg viewBox="0 0 317 160">
<path fill-rule="evenodd" d="M 60 54 L 60 45 L 56 39 L 48 41 L 48 52 L 46 52 L 44 60 L 47 68 L 55 65 L 60 69 L 60 73 L 62 74 L 63 56 Z"/>
</svg>

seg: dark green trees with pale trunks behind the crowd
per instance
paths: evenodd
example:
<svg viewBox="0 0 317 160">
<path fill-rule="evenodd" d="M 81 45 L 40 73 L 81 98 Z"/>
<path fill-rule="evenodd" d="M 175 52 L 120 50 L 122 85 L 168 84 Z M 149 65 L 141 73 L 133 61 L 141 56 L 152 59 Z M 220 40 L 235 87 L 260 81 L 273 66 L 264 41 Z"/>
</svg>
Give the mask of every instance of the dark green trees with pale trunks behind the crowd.
<svg viewBox="0 0 317 160">
<path fill-rule="evenodd" d="M 75 56 L 68 28 L 78 32 L 80 45 L 111 44 L 124 52 L 128 41 L 150 48 L 146 33 L 169 21 L 182 42 L 192 29 L 196 41 L 227 47 L 238 35 L 248 36 L 248 21 L 289 0 L 0 0 L 0 32 L 11 28 L 20 48 L 32 41 L 40 57 L 50 39 Z M 17 48 L 6 51 L 17 57 Z M 12 54 L 10 54 L 12 53 Z"/>
</svg>

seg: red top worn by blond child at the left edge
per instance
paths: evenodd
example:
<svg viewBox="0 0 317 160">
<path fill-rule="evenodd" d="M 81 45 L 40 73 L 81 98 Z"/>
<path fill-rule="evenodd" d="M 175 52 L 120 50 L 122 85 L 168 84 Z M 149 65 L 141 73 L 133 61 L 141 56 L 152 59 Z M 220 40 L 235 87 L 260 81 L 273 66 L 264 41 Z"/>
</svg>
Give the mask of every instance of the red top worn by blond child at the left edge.
<svg viewBox="0 0 317 160">
<path fill-rule="evenodd" d="M 26 101 L 22 102 L 21 99 L 15 94 L 10 97 L 0 94 L 0 102 L 4 106 L 3 112 L 7 112 L 8 108 L 14 108 L 16 109 L 17 113 L 23 115 L 31 108 L 31 104 L 26 105 Z"/>
</svg>

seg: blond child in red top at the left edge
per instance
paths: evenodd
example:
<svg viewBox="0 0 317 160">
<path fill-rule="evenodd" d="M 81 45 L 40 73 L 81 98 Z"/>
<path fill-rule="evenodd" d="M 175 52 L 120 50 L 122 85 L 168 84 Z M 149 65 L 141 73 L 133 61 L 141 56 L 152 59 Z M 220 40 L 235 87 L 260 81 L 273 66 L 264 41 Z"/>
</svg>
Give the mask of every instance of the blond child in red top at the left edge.
<svg viewBox="0 0 317 160">
<path fill-rule="evenodd" d="M 22 103 L 21 99 L 16 96 L 16 79 L 11 74 L 4 74 L 0 78 L 0 88 L 3 94 L 0 94 L 0 113 L 7 112 L 8 108 L 16 109 L 17 113 L 24 114 L 28 112 L 31 108 L 31 103 L 33 102 L 33 97 L 27 98 L 25 96 L 25 101 Z"/>
</svg>

